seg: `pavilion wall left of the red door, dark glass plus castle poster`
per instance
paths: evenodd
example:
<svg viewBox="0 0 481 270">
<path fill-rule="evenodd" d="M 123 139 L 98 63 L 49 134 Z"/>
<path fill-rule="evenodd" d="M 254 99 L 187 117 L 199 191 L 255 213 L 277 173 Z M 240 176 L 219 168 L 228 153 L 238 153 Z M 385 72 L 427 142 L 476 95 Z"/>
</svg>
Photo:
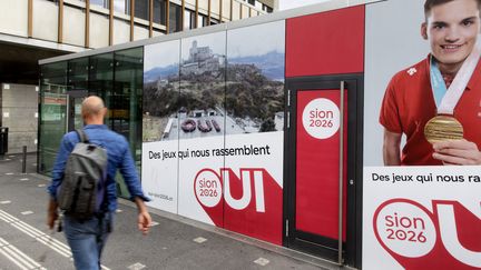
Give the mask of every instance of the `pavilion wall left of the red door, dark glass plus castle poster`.
<svg viewBox="0 0 481 270">
<path fill-rule="evenodd" d="M 276 21 L 43 64 L 40 172 L 97 94 L 149 207 L 282 244 L 284 37 Z M 117 190 L 128 197 L 120 176 Z"/>
</svg>

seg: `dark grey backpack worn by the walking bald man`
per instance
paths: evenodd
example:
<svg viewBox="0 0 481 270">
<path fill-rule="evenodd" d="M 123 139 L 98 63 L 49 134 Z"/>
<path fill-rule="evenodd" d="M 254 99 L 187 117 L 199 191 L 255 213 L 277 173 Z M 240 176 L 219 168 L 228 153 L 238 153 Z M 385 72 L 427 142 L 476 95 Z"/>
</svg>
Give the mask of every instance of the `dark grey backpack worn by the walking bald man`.
<svg viewBox="0 0 481 270">
<path fill-rule="evenodd" d="M 107 151 L 89 142 L 84 130 L 67 160 L 57 202 L 66 214 L 86 220 L 100 212 L 106 194 Z"/>
</svg>

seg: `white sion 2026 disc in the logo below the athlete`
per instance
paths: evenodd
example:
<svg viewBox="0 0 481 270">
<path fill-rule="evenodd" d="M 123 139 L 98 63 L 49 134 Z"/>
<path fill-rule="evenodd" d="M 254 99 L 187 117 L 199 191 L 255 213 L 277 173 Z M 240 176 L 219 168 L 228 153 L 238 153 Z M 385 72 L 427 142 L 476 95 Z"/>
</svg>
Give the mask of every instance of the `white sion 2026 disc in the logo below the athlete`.
<svg viewBox="0 0 481 270">
<path fill-rule="evenodd" d="M 374 226 L 376 237 L 385 248 L 403 257 L 423 257 L 436 241 L 431 217 L 406 201 L 393 201 L 377 209 Z"/>
</svg>

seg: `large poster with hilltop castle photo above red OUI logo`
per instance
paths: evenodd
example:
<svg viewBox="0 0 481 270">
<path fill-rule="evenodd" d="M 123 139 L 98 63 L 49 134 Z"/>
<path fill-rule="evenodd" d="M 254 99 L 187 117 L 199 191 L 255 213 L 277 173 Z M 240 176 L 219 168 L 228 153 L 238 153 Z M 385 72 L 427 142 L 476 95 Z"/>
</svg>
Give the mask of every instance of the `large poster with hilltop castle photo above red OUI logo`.
<svg viewBox="0 0 481 270">
<path fill-rule="evenodd" d="M 150 207 L 282 244 L 284 34 L 278 21 L 146 47 Z"/>
</svg>

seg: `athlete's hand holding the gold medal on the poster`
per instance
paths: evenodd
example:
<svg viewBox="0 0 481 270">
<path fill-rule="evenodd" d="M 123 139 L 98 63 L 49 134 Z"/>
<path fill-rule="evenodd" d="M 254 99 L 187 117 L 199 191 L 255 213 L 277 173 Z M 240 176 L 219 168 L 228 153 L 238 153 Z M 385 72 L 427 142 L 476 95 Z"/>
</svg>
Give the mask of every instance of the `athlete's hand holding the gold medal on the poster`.
<svg viewBox="0 0 481 270">
<path fill-rule="evenodd" d="M 435 142 L 433 144 L 433 158 L 446 164 L 481 164 L 481 152 L 474 142 L 467 140 L 453 140 Z"/>
</svg>

